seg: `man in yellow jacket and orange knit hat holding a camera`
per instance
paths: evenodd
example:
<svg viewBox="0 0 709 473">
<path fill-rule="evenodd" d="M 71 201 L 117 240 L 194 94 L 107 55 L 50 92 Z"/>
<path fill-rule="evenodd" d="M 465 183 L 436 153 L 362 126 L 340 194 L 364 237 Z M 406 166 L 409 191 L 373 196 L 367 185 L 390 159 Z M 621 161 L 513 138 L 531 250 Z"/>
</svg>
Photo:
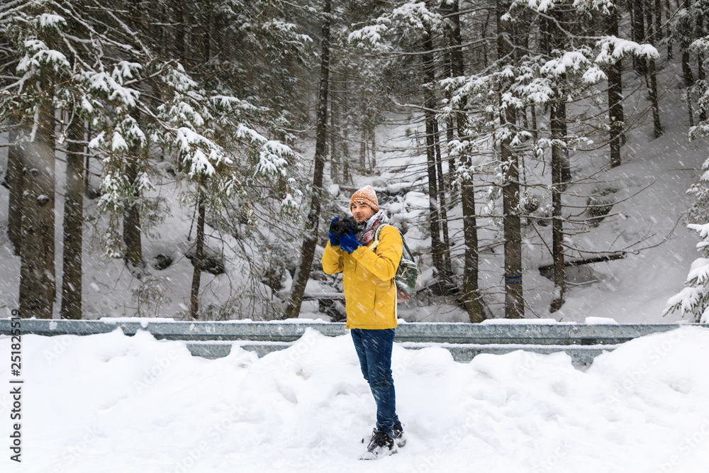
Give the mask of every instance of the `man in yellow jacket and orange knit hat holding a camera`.
<svg viewBox="0 0 709 473">
<path fill-rule="evenodd" d="M 379 210 L 372 186 L 352 194 L 350 211 L 357 232 L 333 234 L 323 253 L 327 274 L 342 272 L 345 286 L 347 325 L 352 334 L 359 367 L 376 401 L 376 427 L 362 459 L 374 460 L 396 453 L 406 442 L 396 416 L 396 395 L 391 377 L 391 349 L 396 328 L 396 284 L 394 274 L 401 260 L 403 243 L 398 230 L 386 225 L 389 218 Z M 337 219 L 333 219 L 335 222 Z M 376 228 L 379 243 L 372 241 Z"/>
</svg>

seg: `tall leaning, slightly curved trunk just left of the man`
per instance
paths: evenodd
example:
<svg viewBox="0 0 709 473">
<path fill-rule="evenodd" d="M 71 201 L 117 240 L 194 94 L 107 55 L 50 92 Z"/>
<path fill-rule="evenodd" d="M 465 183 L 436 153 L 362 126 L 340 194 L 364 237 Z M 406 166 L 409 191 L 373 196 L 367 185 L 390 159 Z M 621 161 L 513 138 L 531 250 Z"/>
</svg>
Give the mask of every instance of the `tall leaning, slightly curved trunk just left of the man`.
<svg viewBox="0 0 709 473">
<path fill-rule="evenodd" d="M 316 129 L 315 167 L 313 169 L 313 198 L 308 213 L 301 262 L 296 269 L 291 300 L 286 308 L 285 318 L 297 318 L 303 304 L 303 294 L 310 277 L 316 245 L 318 244 L 318 221 L 320 201 L 323 198 L 323 174 L 325 173 L 325 152 L 328 146 L 328 87 L 330 87 L 330 4 L 323 3 L 323 44 L 320 59 L 320 97 L 318 101 L 318 123 Z"/>
</svg>

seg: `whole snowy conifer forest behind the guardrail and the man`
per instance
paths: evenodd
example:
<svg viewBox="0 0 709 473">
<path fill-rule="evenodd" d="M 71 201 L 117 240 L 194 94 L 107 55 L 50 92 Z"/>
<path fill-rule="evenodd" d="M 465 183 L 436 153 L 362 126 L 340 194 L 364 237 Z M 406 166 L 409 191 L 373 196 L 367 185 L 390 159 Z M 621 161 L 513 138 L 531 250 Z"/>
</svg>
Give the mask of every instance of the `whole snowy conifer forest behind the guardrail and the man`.
<svg viewBox="0 0 709 473">
<path fill-rule="evenodd" d="M 372 184 L 406 320 L 703 320 L 709 2 L 108 3 L 0 6 L 3 306 L 337 320 Z"/>
</svg>

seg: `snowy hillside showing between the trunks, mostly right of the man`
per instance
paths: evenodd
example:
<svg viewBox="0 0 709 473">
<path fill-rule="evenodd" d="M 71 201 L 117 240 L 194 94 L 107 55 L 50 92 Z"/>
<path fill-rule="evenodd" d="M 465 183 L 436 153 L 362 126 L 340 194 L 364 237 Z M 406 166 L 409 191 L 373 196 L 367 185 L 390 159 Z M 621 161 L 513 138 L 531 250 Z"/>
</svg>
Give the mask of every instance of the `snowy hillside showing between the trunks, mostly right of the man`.
<svg viewBox="0 0 709 473">
<path fill-rule="evenodd" d="M 629 89 L 640 78 L 629 74 Z M 537 270 L 552 262 L 550 248 L 551 230 L 538 224 L 523 226 L 525 247 L 524 287 L 527 318 L 555 318 L 557 321 L 582 323 L 587 317 L 613 318 L 620 323 L 664 323 L 681 320 L 679 313 L 663 317 L 662 311 L 669 297 L 683 287 L 691 262 L 700 254 L 696 250 L 699 238 L 687 230 L 681 216 L 691 204 L 686 190 L 698 180 L 700 167 L 709 157 L 709 143 L 690 142 L 687 138 L 688 118 L 681 106 L 683 89 L 679 70 L 669 65 L 661 74 L 667 93 L 661 101 L 664 134 L 652 136 L 652 117 L 647 111 L 647 96 L 640 92 L 627 99 L 627 108 L 633 113 L 645 110 L 644 116 L 634 116 L 635 129 L 627 133 L 623 147 L 623 165 L 607 168 L 608 147 L 590 152 L 572 151 L 571 170 L 577 184 L 567 189 L 564 195 L 565 216 L 584 218 L 586 199 L 594 190 L 610 189 L 610 201 L 615 205 L 610 215 L 600 225 L 565 225 L 570 243 L 581 247 L 585 253 L 570 254 L 567 260 L 581 259 L 608 252 L 626 252 L 620 260 L 601 262 L 569 268 L 569 285 L 566 304 L 561 311 L 549 314 L 552 299 L 552 281 L 542 277 Z M 671 84 L 671 85 L 670 85 Z M 401 117 L 399 117 L 401 120 Z M 372 184 L 380 189 L 396 191 L 401 182 L 428 182 L 425 171 L 425 156 L 411 156 L 418 149 L 413 138 L 402 138 L 398 130 L 381 131 L 381 148 L 384 150 L 379 162 L 381 175 L 362 178 L 357 185 Z M 596 140 L 607 138 L 598 135 Z M 540 165 L 527 158 L 525 173 L 532 182 L 537 179 L 549 184 L 548 165 Z M 546 180 L 545 180 L 546 179 Z M 479 194 L 484 194 L 486 184 L 479 182 Z M 420 189 L 406 194 L 401 201 L 389 206 L 393 223 L 405 223 L 409 245 L 430 249 L 430 238 L 425 237 L 424 214 L 428 212 L 428 196 Z M 549 204 L 548 193 L 539 188 L 530 188 L 540 199 L 540 206 Z M 340 202 L 345 211 L 349 194 L 340 193 Z M 546 199 L 546 200 L 545 200 Z M 477 204 L 482 212 L 484 202 Z M 501 206 L 501 204 L 499 204 Z M 499 210 L 498 210 L 499 211 Z M 462 240 L 460 206 L 449 212 L 451 235 Z M 419 228 L 413 225 L 418 223 Z M 481 274 L 480 286 L 484 300 L 493 316 L 503 316 L 503 266 L 502 248 L 486 250 L 487 243 L 502 239 L 501 229 L 490 225 L 490 219 L 479 218 L 481 226 Z M 453 249 L 459 255 L 454 270 L 462 274 L 462 245 Z M 430 257 L 423 258 L 423 267 L 430 266 Z M 454 262 L 455 263 L 455 262 Z M 430 278 L 430 269 L 423 272 L 422 285 Z M 400 316 L 408 321 L 468 321 L 467 314 L 446 304 L 425 304 L 425 293 L 419 304 L 400 304 Z"/>
</svg>

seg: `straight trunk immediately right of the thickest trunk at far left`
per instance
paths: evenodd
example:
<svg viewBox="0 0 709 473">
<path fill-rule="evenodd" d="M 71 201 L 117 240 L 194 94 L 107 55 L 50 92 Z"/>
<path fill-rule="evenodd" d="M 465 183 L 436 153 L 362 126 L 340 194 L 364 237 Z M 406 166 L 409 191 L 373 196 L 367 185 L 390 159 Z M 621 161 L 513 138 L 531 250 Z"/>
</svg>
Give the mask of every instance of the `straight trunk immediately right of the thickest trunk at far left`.
<svg viewBox="0 0 709 473">
<path fill-rule="evenodd" d="M 67 140 L 67 188 L 64 193 L 61 318 L 82 318 L 82 246 L 84 222 L 84 121 L 73 117 Z"/>
</svg>

